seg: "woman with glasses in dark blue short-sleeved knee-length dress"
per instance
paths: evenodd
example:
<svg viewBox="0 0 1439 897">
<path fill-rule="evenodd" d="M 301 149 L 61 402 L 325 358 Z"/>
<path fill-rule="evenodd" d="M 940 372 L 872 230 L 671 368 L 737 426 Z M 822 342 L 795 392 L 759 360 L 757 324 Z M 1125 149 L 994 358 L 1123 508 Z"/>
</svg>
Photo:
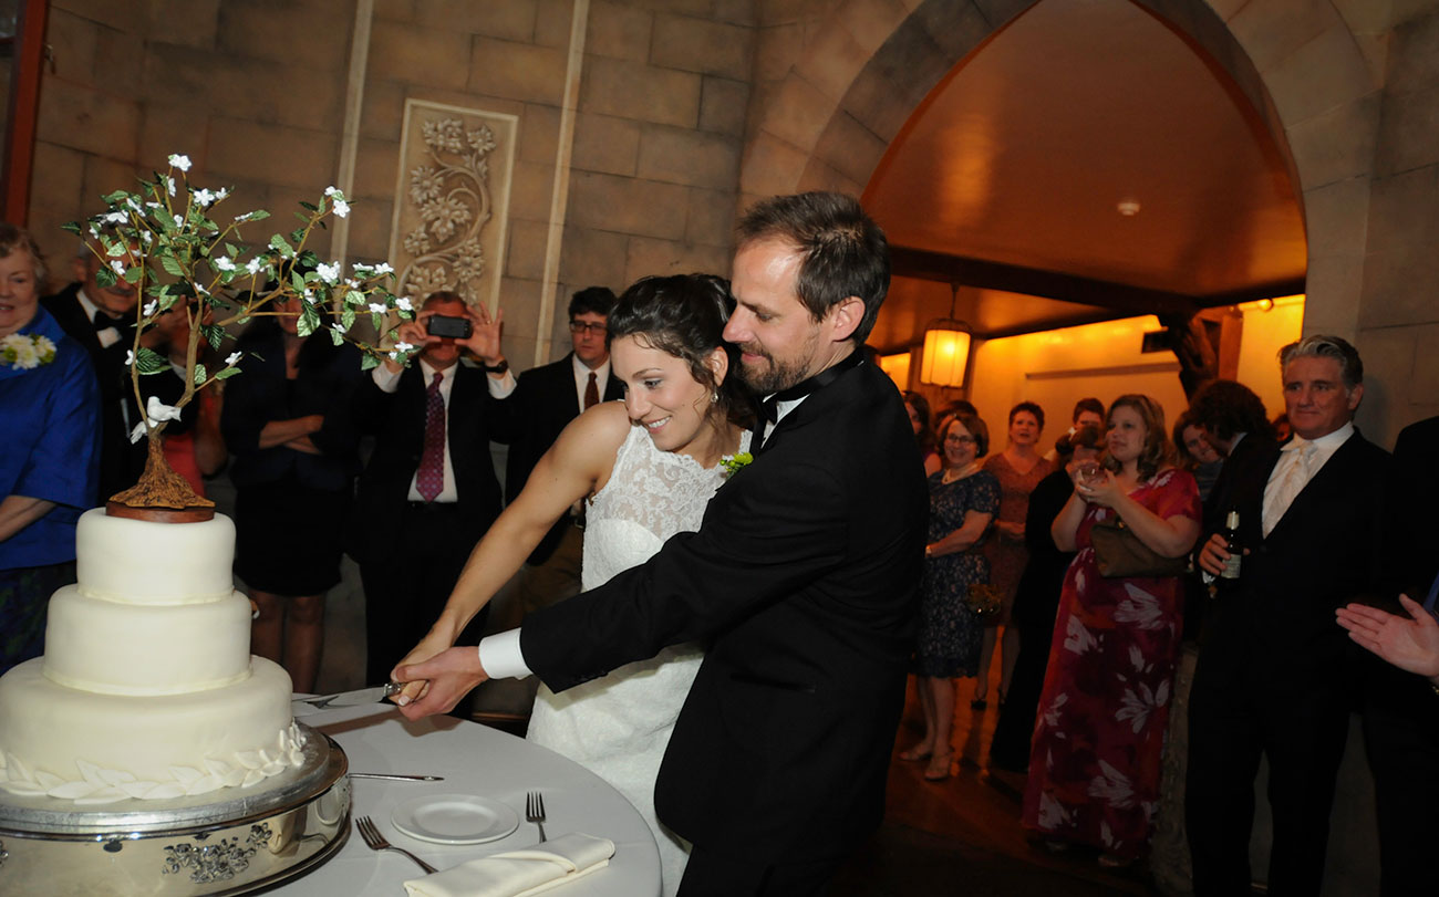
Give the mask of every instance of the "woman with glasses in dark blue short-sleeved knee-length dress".
<svg viewBox="0 0 1439 897">
<path fill-rule="evenodd" d="M 999 482 L 979 459 L 989 450 L 989 428 L 973 414 L 948 418 L 941 433 L 944 470 L 930 477 L 930 533 L 920 581 L 920 643 L 914 673 L 924 710 L 924 740 L 899 755 L 930 765 L 931 782 L 950 775 L 954 749 L 954 677 L 974 676 L 983 622 L 964 598 L 989 582 L 989 562 L 977 546 L 999 510 Z"/>
</svg>

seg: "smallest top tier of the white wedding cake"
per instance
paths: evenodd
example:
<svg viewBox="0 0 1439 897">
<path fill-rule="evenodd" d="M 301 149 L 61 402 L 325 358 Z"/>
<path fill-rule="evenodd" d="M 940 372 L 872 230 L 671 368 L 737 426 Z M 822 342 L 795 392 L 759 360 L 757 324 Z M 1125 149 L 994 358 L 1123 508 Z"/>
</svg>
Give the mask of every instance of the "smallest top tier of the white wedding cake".
<svg viewBox="0 0 1439 897">
<path fill-rule="evenodd" d="M 75 532 L 79 589 L 134 604 L 187 604 L 235 591 L 235 523 L 223 515 L 196 523 L 81 515 Z"/>
</svg>

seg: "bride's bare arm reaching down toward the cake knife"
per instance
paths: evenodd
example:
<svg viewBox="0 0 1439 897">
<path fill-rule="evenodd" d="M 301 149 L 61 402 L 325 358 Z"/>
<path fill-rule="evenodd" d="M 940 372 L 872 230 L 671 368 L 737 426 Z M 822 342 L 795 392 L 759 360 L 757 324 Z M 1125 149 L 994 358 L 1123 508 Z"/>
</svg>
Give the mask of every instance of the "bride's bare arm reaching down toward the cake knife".
<svg viewBox="0 0 1439 897">
<path fill-rule="evenodd" d="M 554 522 L 571 505 L 604 486 L 629 427 L 623 404 L 602 402 L 564 428 L 530 473 L 519 496 L 471 552 L 429 634 L 396 667 L 429 660 L 455 644 L 465 624 L 519 569 Z M 403 694 L 413 700 L 422 686 L 412 683 Z"/>
</svg>

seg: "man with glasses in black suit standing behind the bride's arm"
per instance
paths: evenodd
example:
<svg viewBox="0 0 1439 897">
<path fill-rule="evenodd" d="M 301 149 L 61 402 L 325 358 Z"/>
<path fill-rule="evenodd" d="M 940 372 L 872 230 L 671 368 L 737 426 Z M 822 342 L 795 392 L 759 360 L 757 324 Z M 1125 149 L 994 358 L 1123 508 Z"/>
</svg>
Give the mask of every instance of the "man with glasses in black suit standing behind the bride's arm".
<svg viewBox="0 0 1439 897">
<path fill-rule="evenodd" d="M 519 497 L 530 473 L 570 421 L 596 402 L 625 397 L 619 380 L 610 377 L 604 322 L 613 306 L 614 293 L 607 288 L 591 286 L 574 293 L 570 298 L 573 351 L 560 361 L 521 374 L 515 391 L 504 401 L 508 437 L 496 438 L 509 443 L 505 502 Z M 571 509 L 530 553 L 504 598 L 508 625 L 519 625 L 524 614 L 578 594 L 581 522 L 580 509 Z"/>
</svg>

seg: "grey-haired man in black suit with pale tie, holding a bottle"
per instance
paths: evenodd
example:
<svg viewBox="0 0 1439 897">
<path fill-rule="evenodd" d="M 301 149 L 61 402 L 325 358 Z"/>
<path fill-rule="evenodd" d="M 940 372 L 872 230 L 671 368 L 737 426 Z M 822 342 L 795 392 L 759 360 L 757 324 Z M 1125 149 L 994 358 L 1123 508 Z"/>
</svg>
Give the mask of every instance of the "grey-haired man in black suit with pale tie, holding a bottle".
<svg viewBox="0 0 1439 897">
<path fill-rule="evenodd" d="M 1334 611 L 1381 576 L 1390 457 L 1354 428 L 1358 352 L 1315 335 L 1279 358 L 1295 437 L 1226 464 L 1245 553 L 1206 624 L 1190 694 L 1186 821 L 1202 897 L 1249 890 L 1261 755 L 1274 811 L 1269 893 L 1318 894 L 1357 660 Z M 1217 533 L 1199 553 L 1215 575 L 1227 559 Z"/>
</svg>

